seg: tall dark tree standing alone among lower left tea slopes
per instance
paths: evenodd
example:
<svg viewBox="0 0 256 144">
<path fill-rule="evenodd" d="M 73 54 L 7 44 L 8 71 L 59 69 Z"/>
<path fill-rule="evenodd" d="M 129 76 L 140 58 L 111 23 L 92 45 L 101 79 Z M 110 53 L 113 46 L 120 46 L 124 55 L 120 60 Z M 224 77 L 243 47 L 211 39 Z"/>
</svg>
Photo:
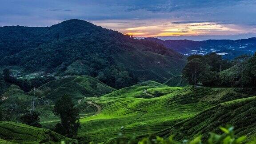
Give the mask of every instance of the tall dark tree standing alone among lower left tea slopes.
<svg viewBox="0 0 256 144">
<path fill-rule="evenodd" d="M 70 96 L 64 95 L 57 100 L 53 112 L 61 119 L 60 123 L 56 124 L 55 131 L 67 137 L 76 136 L 80 128 L 79 110 L 74 108 Z"/>
</svg>

